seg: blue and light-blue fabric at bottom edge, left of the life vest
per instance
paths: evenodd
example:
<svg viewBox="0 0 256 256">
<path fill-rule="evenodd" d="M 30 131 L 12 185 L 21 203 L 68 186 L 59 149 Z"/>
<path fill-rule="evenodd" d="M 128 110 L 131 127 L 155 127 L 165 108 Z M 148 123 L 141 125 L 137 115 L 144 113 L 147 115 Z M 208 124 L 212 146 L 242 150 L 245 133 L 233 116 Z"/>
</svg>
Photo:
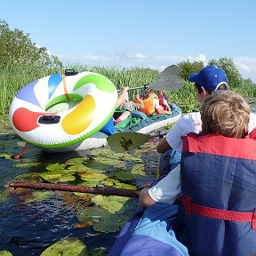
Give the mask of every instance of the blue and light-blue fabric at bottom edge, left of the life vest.
<svg viewBox="0 0 256 256">
<path fill-rule="evenodd" d="M 175 204 L 158 203 L 145 212 L 140 208 L 125 224 L 108 256 L 188 256 L 187 248 L 180 244 L 173 232 L 177 209 Z"/>
</svg>

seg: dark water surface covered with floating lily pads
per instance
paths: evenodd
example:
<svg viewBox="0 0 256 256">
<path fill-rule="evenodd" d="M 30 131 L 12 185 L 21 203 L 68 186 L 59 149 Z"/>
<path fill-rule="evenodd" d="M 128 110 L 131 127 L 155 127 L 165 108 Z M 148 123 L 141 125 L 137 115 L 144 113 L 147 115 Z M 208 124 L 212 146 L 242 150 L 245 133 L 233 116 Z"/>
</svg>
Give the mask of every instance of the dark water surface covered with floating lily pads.
<svg viewBox="0 0 256 256">
<path fill-rule="evenodd" d="M 121 226 L 137 207 L 138 199 L 107 196 L 113 198 L 112 201 L 106 198 L 100 201 L 97 195 L 27 188 L 14 190 L 8 186 L 12 180 L 36 182 L 42 177 L 50 179 L 49 173 L 64 169 L 65 173 L 67 170 L 73 173 L 75 178 L 72 175 L 71 178 L 75 180 L 62 183 L 91 187 L 114 184 L 117 188 L 140 189 L 156 177 L 159 154 L 154 140 L 130 155 L 114 154 L 109 148 L 49 154 L 28 145 L 23 157 L 15 160 L 12 156 L 20 153 L 24 142 L 12 132 L 5 115 L 0 116 L 0 141 L 0 251 L 7 250 L 13 256 L 40 255 L 47 247 L 67 237 L 81 240 L 91 255 L 96 248 L 100 248 L 97 255 L 107 255 Z M 89 174 L 91 171 L 99 173 L 98 178 L 101 178 L 97 180 L 91 173 L 83 180 L 81 168 Z M 74 170 L 79 173 L 74 174 Z M 131 179 L 124 178 L 131 175 Z"/>
</svg>

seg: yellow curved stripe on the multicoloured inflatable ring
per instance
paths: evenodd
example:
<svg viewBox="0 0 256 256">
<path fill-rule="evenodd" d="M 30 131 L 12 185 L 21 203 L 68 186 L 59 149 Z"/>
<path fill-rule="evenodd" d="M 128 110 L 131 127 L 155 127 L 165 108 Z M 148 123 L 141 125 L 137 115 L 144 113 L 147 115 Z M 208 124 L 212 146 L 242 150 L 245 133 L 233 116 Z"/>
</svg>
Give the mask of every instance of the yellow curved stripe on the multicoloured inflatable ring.
<svg viewBox="0 0 256 256">
<path fill-rule="evenodd" d="M 91 95 L 85 95 L 76 108 L 62 120 L 62 127 L 65 132 L 76 135 L 92 123 L 95 113 L 95 101 Z"/>
</svg>

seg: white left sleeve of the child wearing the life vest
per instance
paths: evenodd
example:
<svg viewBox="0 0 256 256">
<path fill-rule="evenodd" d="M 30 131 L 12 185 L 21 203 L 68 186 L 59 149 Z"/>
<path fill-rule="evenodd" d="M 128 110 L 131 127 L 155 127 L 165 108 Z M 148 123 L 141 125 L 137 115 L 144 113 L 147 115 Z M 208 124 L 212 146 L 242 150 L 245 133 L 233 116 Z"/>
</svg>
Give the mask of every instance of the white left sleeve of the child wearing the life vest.
<svg viewBox="0 0 256 256">
<path fill-rule="evenodd" d="M 180 193 L 180 164 L 154 187 L 148 189 L 148 195 L 154 201 L 169 204 L 173 204 Z"/>
</svg>

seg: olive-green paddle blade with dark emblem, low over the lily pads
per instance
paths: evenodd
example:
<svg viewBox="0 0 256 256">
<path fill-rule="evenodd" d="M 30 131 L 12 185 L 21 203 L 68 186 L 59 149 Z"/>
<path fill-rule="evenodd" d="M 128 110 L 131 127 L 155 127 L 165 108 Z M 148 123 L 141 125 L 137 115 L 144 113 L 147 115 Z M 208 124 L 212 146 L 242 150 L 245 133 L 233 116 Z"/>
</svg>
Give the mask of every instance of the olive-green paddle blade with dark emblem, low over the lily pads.
<svg viewBox="0 0 256 256">
<path fill-rule="evenodd" d="M 120 132 L 108 136 L 108 146 L 116 153 L 123 153 L 140 147 L 150 140 L 149 134 L 140 132 Z"/>
</svg>

